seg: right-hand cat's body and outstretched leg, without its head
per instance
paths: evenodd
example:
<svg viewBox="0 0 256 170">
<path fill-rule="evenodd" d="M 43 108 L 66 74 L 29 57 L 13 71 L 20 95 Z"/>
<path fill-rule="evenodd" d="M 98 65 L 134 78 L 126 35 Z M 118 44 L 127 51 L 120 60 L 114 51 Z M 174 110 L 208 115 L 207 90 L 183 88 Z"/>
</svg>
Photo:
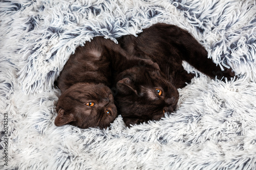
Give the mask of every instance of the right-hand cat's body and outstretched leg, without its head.
<svg viewBox="0 0 256 170">
<path fill-rule="evenodd" d="M 191 34 L 174 25 L 157 23 L 138 37 L 126 35 L 118 42 L 130 55 L 156 62 L 176 88 L 184 87 L 194 77 L 184 70 L 183 60 L 211 78 L 234 76 L 231 69 L 222 71 L 208 59 L 205 48 Z"/>
</svg>

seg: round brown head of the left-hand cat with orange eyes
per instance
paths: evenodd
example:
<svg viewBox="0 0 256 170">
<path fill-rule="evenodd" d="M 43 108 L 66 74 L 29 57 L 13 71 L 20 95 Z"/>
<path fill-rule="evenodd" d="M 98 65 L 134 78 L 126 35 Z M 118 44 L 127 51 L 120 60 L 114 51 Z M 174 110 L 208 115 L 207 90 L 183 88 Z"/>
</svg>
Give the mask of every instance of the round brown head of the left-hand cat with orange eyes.
<svg viewBox="0 0 256 170">
<path fill-rule="evenodd" d="M 56 126 L 106 128 L 117 117 L 112 92 L 104 84 L 77 83 L 71 86 L 60 95 L 56 110 Z"/>
</svg>

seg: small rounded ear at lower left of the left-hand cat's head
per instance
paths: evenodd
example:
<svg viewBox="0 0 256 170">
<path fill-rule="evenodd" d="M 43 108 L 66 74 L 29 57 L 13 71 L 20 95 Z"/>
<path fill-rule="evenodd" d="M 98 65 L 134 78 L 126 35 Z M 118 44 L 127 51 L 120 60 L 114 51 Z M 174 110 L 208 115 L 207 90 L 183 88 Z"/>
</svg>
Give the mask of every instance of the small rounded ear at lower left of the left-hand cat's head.
<svg viewBox="0 0 256 170">
<path fill-rule="evenodd" d="M 75 121 L 75 117 L 73 114 L 65 114 L 65 111 L 63 109 L 59 109 L 58 115 L 55 118 L 54 124 L 56 126 L 62 126 L 73 121 Z"/>
</svg>

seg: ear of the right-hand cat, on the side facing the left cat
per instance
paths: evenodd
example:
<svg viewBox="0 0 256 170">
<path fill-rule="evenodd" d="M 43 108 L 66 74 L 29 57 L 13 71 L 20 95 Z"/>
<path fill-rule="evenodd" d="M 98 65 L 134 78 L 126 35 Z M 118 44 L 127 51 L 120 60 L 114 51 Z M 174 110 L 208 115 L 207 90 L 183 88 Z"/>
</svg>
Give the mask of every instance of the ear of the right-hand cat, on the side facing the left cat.
<svg viewBox="0 0 256 170">
<path fill-rule="evenodd" d="M 130 78 L 123 78 L 119 80 L 116 85 L 118 91 L 123 94 L 129 94 L 131 92 L 135 92 L 137 94 L 137 90 L 134 88 L 133 82 Z"/>
</svg>

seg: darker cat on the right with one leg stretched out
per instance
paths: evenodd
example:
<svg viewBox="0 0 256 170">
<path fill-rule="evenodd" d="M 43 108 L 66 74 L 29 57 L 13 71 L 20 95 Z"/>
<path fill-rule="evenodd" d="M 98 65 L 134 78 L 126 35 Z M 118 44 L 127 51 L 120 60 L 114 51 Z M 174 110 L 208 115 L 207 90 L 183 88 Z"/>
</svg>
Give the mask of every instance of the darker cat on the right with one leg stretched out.
<svg viewBox="0 0 256 170">
<path fill-rule="evenodd" d="M 130 87 L 129 92 L 127 88 L 118 88 L 115 96 L 118 110 L 127 126 L 159 119 L 163 116 L 163 111 L 173 112 L 179 96 L 176 88 L 184 87 L 195 76 L 184 70 L 183 60 L 211 78 L 234 76 L 231 69 L 222 71 L 220 66 L 216 66 L 207 58 L 207 51 L 193 36 L 174 25 L 158 23 L 144 29 L 138 37 L 126 35 L 118 41 L 129 55 L 150 59 L 161 70 L 155 73 L 151 70 L 133 69 L 116 78 L 116 82 L 123 81 L 123 84 Z M 155 93 L 153 87 L 156 89 Z"/>
</svg>

